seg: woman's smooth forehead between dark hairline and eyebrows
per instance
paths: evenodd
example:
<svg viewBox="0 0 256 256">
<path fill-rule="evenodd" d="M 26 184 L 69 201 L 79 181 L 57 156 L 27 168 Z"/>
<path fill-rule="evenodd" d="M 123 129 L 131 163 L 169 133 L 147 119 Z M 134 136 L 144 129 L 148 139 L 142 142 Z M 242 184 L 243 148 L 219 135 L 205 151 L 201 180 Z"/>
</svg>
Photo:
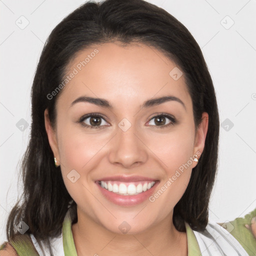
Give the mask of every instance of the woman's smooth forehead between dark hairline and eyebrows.
<svg viewBox="0 0 256 256">
<path fill-rule="evenodd" d="M 164 53 L 145 44 L 93 45 L 69 63 L 59 98 L 65 104 L 81 95 L 107 98 L 117 107 L 168 94 L 190 104 L 184 75 L 177 68 Z"/>
</svg>

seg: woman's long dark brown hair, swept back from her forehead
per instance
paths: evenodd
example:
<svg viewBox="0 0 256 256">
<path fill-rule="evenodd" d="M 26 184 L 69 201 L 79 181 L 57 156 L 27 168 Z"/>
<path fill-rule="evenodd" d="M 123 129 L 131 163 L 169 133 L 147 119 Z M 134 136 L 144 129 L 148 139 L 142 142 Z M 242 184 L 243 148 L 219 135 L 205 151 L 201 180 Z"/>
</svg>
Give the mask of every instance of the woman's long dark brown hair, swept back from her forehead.
<svg viewBox="0 0 256 256">
<path fill-rule="evenodd" d="M 140 42 L 163 52 L 182 69 L 192 98 L 195 126 L 200 123 L 202 112 L 209 115 L 204 150 L 173 209 L 177 230 L 185 231 L 184 221 L 193 230 L 204 230 L 217 168 L 219 118 L 214 87 L 200 47 L 187 28 L 160 7 L 144 0 L 105 0 L 86 2 L 75 9 L 45 42 L 31 89 L 31 133 L 21 162 L 23 193 L 7 220 L 8 240 L 16 234 L 15 226 L 21 220 L 29 226 L 27 233 L 32 233 L 39 244 L 49 244 L 51 237 L 60 234 L 72 198 L 60 167 L 54 166 L 44 126 L 46 108 L 52 127 L 55 126 L 55 102 L 61 91 L 52 98 L 47 95 L 61 83 L 67 65 L 79 50 L 111 41 L 123 45 Z M 71 209 L 76 216 L 74 201 Z"/>
</svg>

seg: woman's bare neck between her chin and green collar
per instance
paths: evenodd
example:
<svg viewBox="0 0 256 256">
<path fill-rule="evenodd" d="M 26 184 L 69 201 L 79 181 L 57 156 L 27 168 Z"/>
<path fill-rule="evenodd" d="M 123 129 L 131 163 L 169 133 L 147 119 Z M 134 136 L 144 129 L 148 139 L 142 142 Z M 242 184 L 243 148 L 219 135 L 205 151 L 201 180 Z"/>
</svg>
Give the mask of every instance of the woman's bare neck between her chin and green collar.
<svg viewBox="0 0 256 256">
<path fill-rule="evenodd" d="M 77 209 L 78 221 L 72 225 L 77 255 L 187 255 L 186 232 L 172 223 L 172 213 L 143 232 L 117 234 Z"/>
</svg>

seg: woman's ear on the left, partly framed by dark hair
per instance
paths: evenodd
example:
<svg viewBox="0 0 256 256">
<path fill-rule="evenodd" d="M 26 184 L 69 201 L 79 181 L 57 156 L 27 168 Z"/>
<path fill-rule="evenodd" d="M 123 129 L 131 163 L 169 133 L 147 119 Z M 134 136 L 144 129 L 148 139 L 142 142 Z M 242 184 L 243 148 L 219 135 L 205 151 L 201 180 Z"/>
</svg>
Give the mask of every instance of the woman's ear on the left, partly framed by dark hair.
<svg viewBox="0 0 256 256">
<path fill-rule="evenodd" d="M 46 133 L 48 136 L 48 141 L 49 141 L 51 150 L 53 152 L 54 157 L 56 157 L 57 164 L 59 165 L 60 160 L 59 160 L 59 151 L 58 151 L 56 132 L 51 126 L 47 108 L 44 110 L 44 125 L 45 125 L 45 129 L 46 129 Z M 54 159 L 52 159 L 52 161 L 54 161 Z"/>
</svg>

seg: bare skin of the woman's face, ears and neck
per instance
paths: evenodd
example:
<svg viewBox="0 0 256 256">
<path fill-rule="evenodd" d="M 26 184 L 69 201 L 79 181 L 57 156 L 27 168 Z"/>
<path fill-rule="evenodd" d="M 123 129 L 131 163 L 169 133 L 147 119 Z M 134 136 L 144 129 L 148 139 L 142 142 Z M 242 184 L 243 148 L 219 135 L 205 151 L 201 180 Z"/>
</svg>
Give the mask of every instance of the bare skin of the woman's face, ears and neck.
<svg viewBox="0 0 256 256">
<path fill-rule="evenodd" d="M 177 65 L 144 44 L 91 46 L 78 52 L 67 74 L 95 48 L 99 52 L 57 98 L 55 129 L 47 109 L 44 112 L 51 149 L 60 163 L 65 186 L 77 203 L 78 221 L 72 225 L 77 254 L 187 255 L 186 233 L 175 229 L 172 214 L 195 161 L 154 202 L 145 200 L 135 206 L 110 202 L 94 181 L 116 174 L 141 175 L 159 180 L 157 191 L 179 166 L 203 151 L 208 114 L 202 114 L 196 129 L 184 75 L 174 80 L 169 72 Z M 83 95 L 104 98 L 112 109 L 88 102 L 70 107 Z M 184 106 L 172 100 L 140 108 L 145 100 L 166 95 L 179 98 Z M 95 112 L 103 115 L 101 128 L 87 128 L 77 122 L 82 115 Z M 165 127 L 160 128 L 153 118 L 160 113 L 174 116 L 177 122 L 166 126 L 170 122 L 166 118 Z M 127 131 L 118 127 L 123 118 L 131 123 Z M 89 124 L 89 120 L 84 122 Z M 67 178 L 72 169 L 80 175 L 75 183 Z M 123 221 L 131 227 L 126 234 L 118 228 Z"/>
</svg>

